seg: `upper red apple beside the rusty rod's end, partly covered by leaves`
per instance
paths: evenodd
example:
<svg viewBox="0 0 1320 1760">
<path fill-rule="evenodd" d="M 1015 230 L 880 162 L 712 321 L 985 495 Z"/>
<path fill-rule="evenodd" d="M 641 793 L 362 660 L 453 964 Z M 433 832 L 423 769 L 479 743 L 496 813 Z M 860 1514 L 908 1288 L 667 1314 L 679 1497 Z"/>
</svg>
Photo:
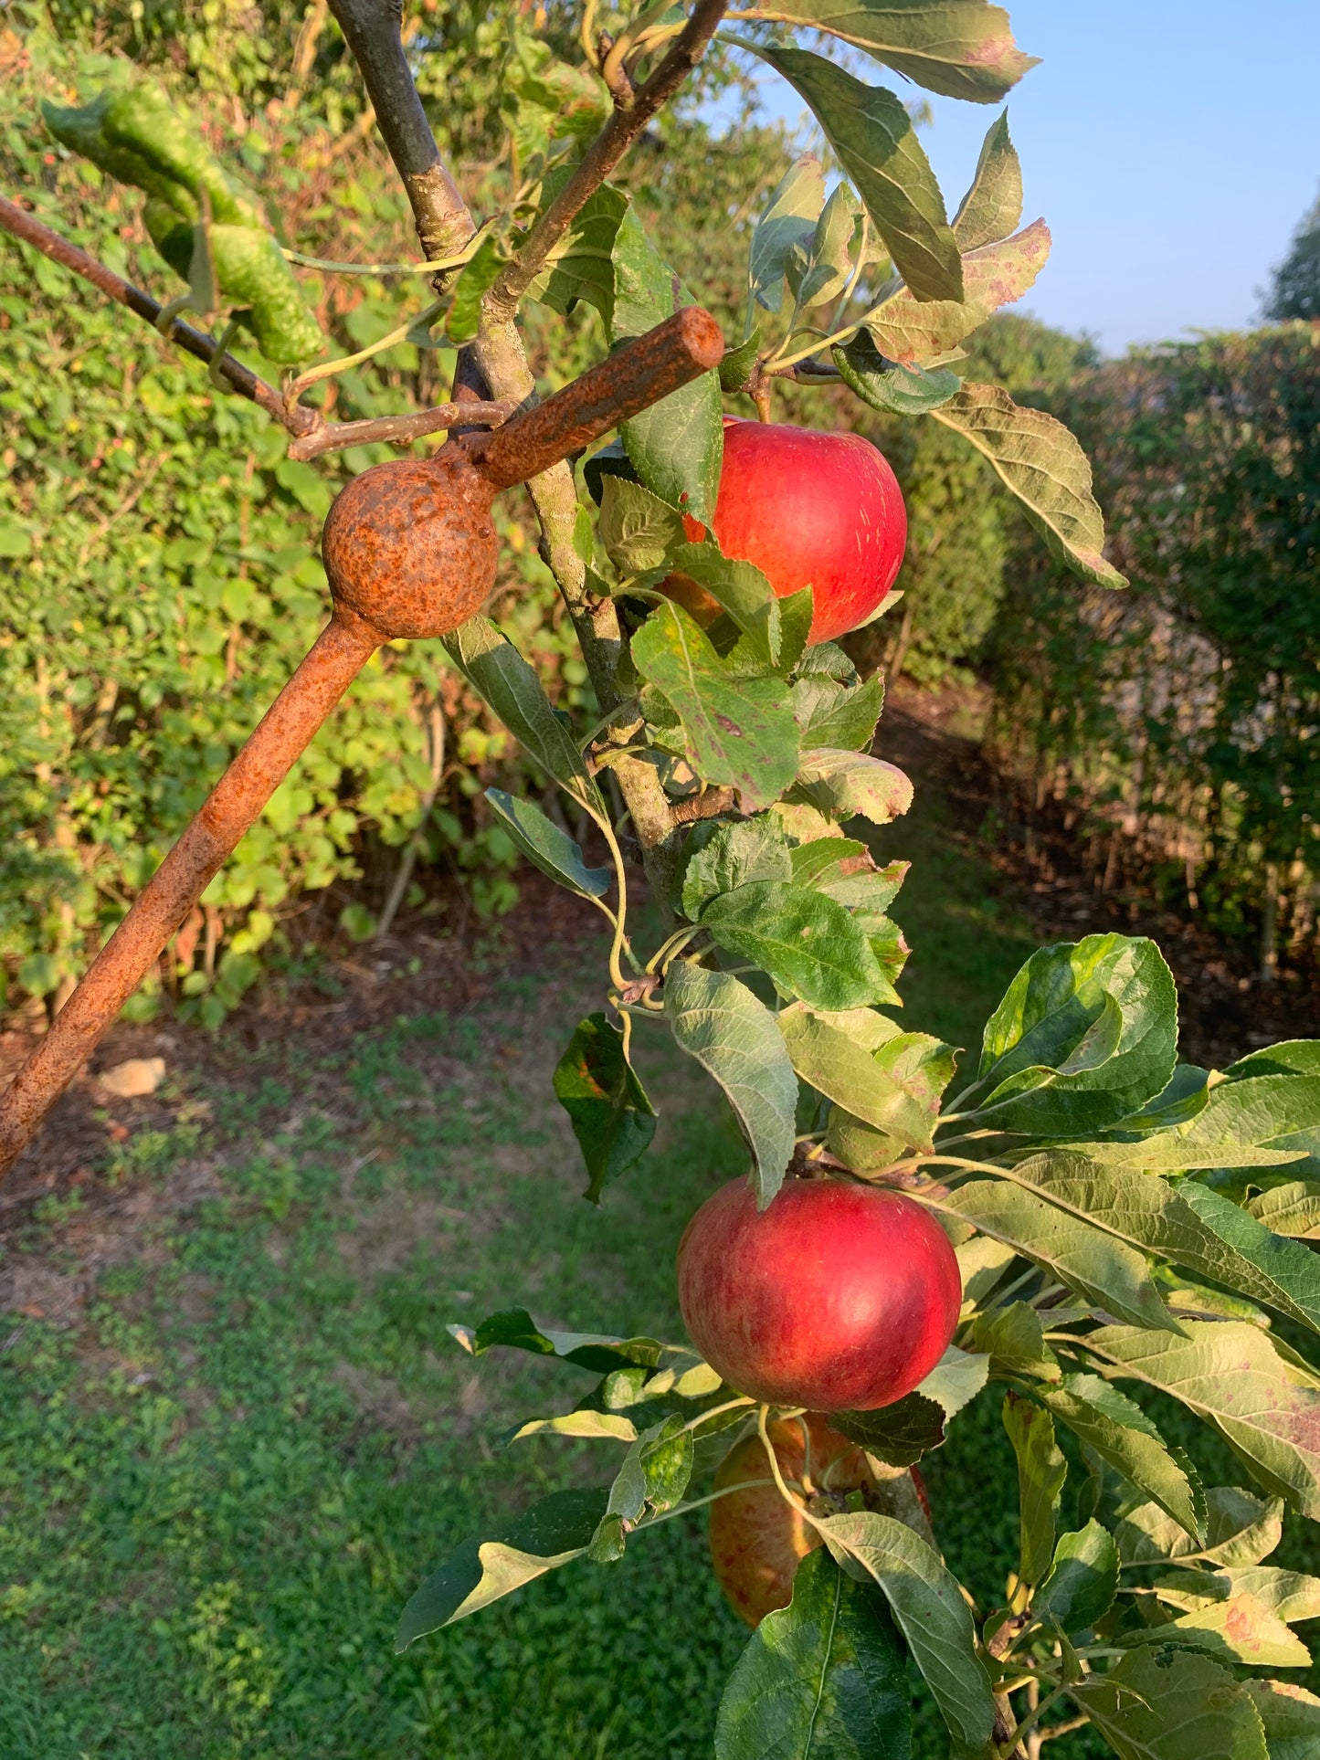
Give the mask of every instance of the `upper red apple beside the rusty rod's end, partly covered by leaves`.
<svg viewBox="0 0 1320 1760">
<path fill-rule="evenodd" d="M 695 519 L 685 524 L 693 542 L 706 537 Z M 861 435 L 725 415 L 715 537 L 725 556 L 755 563 L 778 598 L 813 588 L 811 641 L 832 642 L 894 584 L 908 516 L 889 459 Z M 665 588 L 702 621 L 718 609 L 685 576 Z"/>
</svg>

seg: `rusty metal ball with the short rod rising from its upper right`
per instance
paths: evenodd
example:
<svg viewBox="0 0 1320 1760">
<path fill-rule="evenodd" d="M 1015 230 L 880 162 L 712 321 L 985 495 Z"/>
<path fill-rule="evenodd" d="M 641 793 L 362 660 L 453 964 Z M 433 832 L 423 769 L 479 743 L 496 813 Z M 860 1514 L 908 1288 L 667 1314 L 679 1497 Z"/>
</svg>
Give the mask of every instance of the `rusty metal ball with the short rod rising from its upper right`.
<svg viewBox="0 0 1320 1760">
<path fill-rule="evenodd" d="M 431 459 L 375 465 L 340 491 L 320 540 L 338 609 L 382 639 L 447 635 L 495 586 L 491 502 L 718 366 L 723 336 L 699 306 L 625 343 L 556 396 Z"/>
</svg>

